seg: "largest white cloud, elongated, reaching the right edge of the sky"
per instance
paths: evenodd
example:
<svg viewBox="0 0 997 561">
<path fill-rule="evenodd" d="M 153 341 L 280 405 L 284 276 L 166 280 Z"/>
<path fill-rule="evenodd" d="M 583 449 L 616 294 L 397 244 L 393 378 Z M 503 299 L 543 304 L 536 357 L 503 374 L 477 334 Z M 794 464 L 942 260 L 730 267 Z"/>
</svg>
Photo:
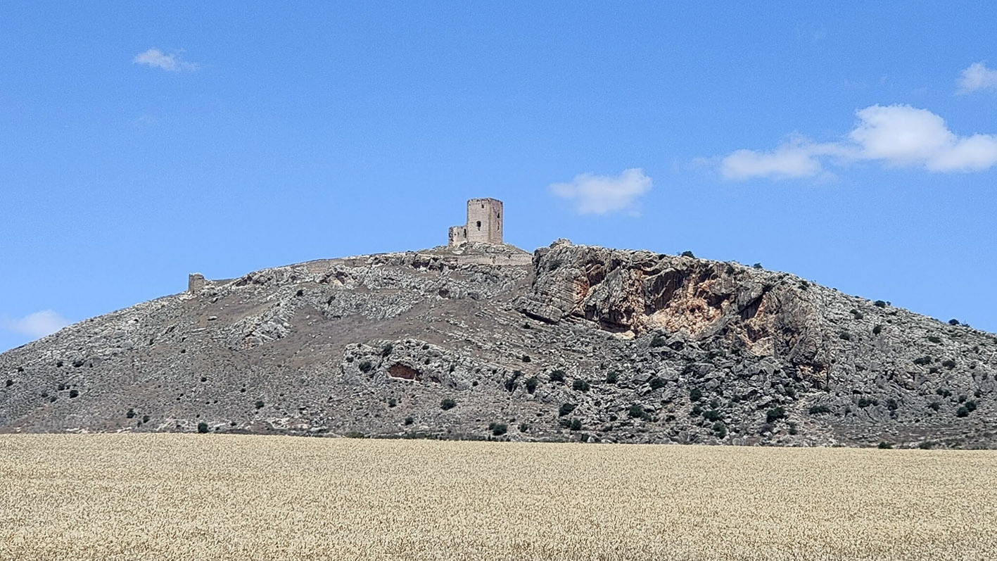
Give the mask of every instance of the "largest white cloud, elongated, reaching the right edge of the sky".
<svg viewBox="0 0 997 561">
<path fill-rule="evenodd" d="M 720 159 L 728 180 L 818 178 L 827 166 L 857 161 L 929 172 L 978 172 L 997 164 L 997 136 L 958 136 L 945 121 L 909 105 L 873 105 L 855 112 L 858 122 L 846 140 L 815 143 L 794 136 L 773 151 L 737 150 Z"/>
</svg>

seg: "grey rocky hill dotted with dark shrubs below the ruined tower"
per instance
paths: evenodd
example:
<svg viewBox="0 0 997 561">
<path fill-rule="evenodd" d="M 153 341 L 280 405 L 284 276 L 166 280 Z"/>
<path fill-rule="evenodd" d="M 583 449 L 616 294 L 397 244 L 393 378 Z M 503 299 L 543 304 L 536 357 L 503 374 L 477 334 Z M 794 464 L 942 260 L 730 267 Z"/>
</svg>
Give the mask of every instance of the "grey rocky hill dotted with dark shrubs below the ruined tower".
<svg viewBox="0 0 997 561">
<path fill-rule="evenodd" d="M 0 431 L 995 447 L 997 338 L 786 273 L 573 246 L 311 262 L 0 354 Z"/>
</svg>

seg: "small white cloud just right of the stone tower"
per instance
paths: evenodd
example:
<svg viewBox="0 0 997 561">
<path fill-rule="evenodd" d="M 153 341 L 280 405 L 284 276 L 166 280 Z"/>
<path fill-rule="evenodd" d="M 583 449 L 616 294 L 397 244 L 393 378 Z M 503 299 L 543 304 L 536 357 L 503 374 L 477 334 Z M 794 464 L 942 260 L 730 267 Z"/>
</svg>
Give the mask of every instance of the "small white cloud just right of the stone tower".
<svg viewBox="0 0 997 561">
<path fill-rule="evenodd" d="M 640 168 L 623 170 L 617 177 L 581 174 L 570 183 L 555 183 L 550 192 L 574 203 L 582 215 L 604 215 L 631 209 L 638 197 L 651 190 L 651 178 Z"/>
</svg>

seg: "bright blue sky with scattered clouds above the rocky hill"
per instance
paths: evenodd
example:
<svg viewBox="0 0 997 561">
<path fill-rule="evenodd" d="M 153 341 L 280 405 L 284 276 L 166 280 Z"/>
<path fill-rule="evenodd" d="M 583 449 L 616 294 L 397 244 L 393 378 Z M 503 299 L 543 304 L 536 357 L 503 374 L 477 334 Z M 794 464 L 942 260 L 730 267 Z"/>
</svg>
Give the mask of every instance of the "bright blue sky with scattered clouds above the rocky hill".
<svg viewBox="0 0 997 561">
<path fill-rule="evenodd" d="M 997 330 L 993 3 L 203 4 L 0 9 L 0 349 L 472 197 Z"/>
</svg>

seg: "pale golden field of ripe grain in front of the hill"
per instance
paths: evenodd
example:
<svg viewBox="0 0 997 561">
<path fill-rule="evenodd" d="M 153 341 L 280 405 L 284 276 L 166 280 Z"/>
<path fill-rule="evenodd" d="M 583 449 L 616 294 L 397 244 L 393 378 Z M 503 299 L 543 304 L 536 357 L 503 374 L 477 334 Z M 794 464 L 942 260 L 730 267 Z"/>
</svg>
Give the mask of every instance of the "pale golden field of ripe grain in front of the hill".
<svg viewBox="0 0 997 561">
<path fill-rule="evenodd" d="M 0 559 L 987 559 L 987 451 L 0 436 Z"/>
</svg>

